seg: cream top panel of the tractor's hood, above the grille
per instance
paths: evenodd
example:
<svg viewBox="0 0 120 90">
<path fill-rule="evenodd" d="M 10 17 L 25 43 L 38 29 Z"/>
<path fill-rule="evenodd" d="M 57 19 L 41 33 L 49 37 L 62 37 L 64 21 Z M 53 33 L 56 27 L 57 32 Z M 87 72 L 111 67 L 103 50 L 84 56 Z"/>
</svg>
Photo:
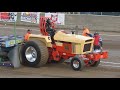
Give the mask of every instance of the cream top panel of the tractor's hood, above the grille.
<svg viewBox="0 0 120 90">
<path fill-rule="evenodd" d="M 54 40 L 73 42 L 73 43 L 81 43 L 81 42 L 85 42 L 86 40 L 93 41 L 94 38 L 86 37 L 86 36 L 82 36 L 82 35 L 66 34 L 62 31 L 58 31 L 54 36 Z"/>
</svg>

